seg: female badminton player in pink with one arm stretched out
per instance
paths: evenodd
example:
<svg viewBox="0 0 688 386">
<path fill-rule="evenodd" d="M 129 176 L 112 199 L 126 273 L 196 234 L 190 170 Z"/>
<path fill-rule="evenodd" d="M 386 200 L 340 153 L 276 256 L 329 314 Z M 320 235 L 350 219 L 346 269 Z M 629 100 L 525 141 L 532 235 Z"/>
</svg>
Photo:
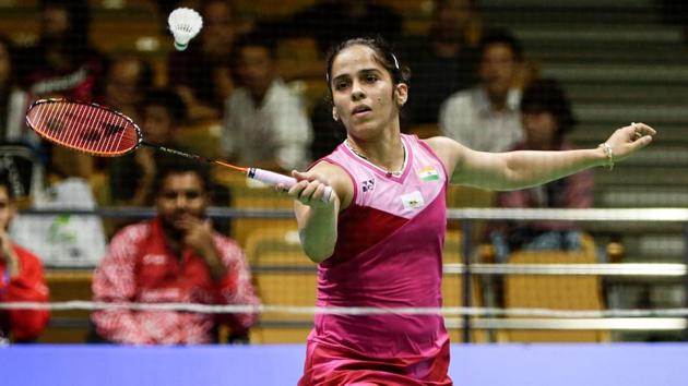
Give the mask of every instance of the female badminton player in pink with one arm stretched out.
<svg viewBox="0 0 688 386">
<path fill-rule="evenodd" d="M 633 123 L 594 149 L 479 153 L 401 134 L 408 71 L 383 41 L 344 41 L 327 75 L 346 140 L 308 171 L 293 171 L 298 182 L 288 190 L 303 248 L 319 263 L 319 306 L 441 306 L 447 183 L 533 186 L 612 167 L 655 134 Z M 333 194 L 322 201 L 327 186 Z M 299 385 L 451 385 L 448 367 L 441 315 L 318 314 Z"/>
</svg>

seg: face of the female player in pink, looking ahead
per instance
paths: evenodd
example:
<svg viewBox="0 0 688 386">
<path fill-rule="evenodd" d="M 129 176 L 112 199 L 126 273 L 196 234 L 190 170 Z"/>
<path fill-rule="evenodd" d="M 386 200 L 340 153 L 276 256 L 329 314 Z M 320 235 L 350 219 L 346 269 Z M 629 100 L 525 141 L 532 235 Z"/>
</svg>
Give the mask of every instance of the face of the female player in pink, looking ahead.
<svg viewBox="0 0 688 386">
<path fill-rule="evenodd" d="M 356 45 L 340 51 L 331 75 L 333 116 L 349 135 L 370 138 L 399 125 L 399 107 L 406 101 L 407 87 L 392 83 L 371 48 Z"/>
</svg>

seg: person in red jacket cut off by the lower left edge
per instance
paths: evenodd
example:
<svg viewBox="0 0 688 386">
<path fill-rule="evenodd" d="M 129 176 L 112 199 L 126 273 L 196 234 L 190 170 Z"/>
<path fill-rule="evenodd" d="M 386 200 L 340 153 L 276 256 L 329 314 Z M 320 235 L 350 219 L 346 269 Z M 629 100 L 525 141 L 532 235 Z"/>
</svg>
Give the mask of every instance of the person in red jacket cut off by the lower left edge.
<svg viewBox="0 0 688 386">
<path fill-rule="evenodd" d="M 0 302 L 47 302 L 40 260 L 13 243 L 8 227 L 14 217 L 12 186 L 0 171 Z M 31 341 L 48 325 L 47 310 L 0 310 L 0 341 Z"/>
</svg>

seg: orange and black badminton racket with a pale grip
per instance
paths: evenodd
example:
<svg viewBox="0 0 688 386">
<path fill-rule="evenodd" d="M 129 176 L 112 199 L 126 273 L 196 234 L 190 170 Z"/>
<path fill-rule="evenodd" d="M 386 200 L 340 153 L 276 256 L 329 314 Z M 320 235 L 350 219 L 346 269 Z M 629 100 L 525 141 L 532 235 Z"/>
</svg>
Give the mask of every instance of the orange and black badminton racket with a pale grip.
<svg viewBox="0 0 688 386">
<path fill-rule="evenodd" d="M 44 138 L 94 156 L 118 157 L 149 146 L 203 162 L 222 165 L 240 171 L 248 178 L 271 185 L 282 184 L 289 189 L 296 180 L 258 168 L 242 168 L 222 160 L 205 158 L 143 141 L 141 129 L 123 113 L 100 106 L 67 99 L 36 100 L 26 111 L 26 123 Z M 328 202 L 332 188 L 328 186 L 322 200 Z"/>
</svg>

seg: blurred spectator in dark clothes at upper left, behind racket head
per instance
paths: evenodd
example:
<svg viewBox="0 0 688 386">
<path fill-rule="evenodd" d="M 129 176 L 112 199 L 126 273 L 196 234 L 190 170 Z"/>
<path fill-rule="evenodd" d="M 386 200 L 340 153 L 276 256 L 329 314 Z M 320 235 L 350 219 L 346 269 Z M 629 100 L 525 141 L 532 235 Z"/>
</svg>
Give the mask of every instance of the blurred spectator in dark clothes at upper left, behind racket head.
<svg viewBox="0 0 688 386">
<path fill-rule="evenodd" d="M 32 97 L 91 101 L 102 93 L 105 59 L 88 43 L 91 15 L 86 0 L 41 0 L 37 45 L 19 51 L 16 74 Z M 88 179 L 93 159 L 46 144 L 50 172 Z"/>
</svg>

